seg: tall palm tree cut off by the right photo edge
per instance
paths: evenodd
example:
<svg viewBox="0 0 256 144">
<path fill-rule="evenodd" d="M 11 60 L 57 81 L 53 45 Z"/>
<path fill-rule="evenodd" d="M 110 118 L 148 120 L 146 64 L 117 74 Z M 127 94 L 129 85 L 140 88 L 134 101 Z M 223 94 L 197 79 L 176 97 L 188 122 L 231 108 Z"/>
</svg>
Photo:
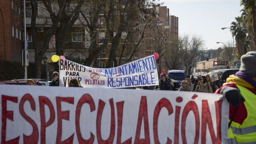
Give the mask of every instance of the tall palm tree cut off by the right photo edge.
<svg viewBox="0 0 256 144">
<path fill-rule="evenodd" d="M 256 1 L 255 0 L 241 0 L 241 5 L 244 6 L 244 11 L 249 14 L 246 18 L 249 19 L 250 24 L 252 24 L 253 38 L 251 41 L 256 47 Z M 248 28 L 248 27 L 247 27 Z"/>
</svg>

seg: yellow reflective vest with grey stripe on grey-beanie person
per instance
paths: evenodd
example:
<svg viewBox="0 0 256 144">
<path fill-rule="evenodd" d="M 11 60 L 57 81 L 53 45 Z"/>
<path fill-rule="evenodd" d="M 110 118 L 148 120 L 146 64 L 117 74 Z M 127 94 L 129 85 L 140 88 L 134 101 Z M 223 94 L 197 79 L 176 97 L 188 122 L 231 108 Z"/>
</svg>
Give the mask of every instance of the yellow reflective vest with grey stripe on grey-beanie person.
<svg viewBox="0 0 256 144">
<path fill-rule="evenodd" d="M 228 129 L 228 143 L 256 143 L 256 95 L 243 86 L 236 86 L 245 99 L 247 117 L 242 125 L 231 123 Z"/>
</svg>

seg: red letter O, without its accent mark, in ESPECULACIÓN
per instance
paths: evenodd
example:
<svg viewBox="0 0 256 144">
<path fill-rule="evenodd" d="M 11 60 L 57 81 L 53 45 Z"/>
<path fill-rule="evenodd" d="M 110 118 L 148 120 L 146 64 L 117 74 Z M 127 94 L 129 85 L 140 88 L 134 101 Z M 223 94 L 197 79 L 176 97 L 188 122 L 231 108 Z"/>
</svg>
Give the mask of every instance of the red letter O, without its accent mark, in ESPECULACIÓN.
<svg viewBox="0 0 256 144">
<path fill-rule="evenodd" d="M 195 140 L 193 143 L 198 143 L 199 140 L 199 128 L 200 128 L 200 119 L 199 119 L 199 112 L 198 112 L 198 107 L 196 105 L 195 101 L 189 101 L 187 105 L 185 106 L 183 113 L 182 113 L 182 119 L 181 119 L 181 138 L 182 138 L 182 143 L 187 143 L 186 140 L 186 119 L 188 116 L 189 111 L 192 110 L 194 115 L 195 115 L 195 120 L 196 120 L 196 133 L 195 133 Z"/>
</svg>

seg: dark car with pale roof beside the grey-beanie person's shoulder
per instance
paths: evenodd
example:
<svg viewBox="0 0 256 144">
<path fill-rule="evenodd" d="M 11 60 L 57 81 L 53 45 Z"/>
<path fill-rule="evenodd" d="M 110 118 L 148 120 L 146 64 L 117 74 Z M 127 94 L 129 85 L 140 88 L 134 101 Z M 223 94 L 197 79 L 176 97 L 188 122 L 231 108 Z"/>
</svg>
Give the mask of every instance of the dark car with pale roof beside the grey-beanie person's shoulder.
<svg viewBox="0 0 256 144">
<path fill-rule="evenodd" d="M 213 74 L 220 74 L 222 82 L 226 83 L 226 79 L 230 75 L 235 75 L 237 71 L 239 71 L 239 69 L 217 69 L 217 70 L 210 71 L 209 75 L 211 76 Z"/>
</svg>

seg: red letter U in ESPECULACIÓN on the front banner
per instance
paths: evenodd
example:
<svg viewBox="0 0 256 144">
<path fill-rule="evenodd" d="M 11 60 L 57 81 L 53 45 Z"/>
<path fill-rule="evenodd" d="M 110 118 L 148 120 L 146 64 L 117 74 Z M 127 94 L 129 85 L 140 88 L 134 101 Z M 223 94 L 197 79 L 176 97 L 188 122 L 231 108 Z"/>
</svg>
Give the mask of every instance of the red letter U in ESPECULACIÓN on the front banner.
<svg viewBox="0 0 256 144">
<path fill-rule="evenodd" d="M 107 140 L 103 140 L 101 137 L 101 117 L 102 117 L 103 109 L 105 107 L 105 102 L 103 102 L 102 100 L 99 100 L 97 122 L 96 122 L 98 143 L 113 143 L 113 141 L 114 141 L 116 122 L 115 122 L 115 109 L 114 109 L 113 99 L 110 99 L 109 103 L 110 103 L 110 108 L 111 108 L 110 134 L 109 134 L 109 137 Z"/>
</svg>

